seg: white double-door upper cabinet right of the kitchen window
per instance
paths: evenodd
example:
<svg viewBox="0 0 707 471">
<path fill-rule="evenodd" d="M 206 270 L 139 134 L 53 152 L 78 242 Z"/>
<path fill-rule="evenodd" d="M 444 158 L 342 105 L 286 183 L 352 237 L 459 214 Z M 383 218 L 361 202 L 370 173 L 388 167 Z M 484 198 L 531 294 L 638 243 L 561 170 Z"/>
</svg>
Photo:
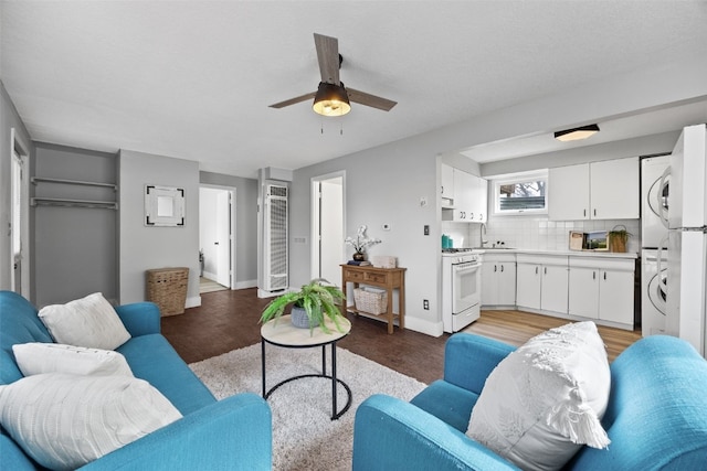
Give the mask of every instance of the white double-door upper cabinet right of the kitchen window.
<svg viewBox="0 0 707 471">
<path fill-rule="evenodd" d="M 639 158 L 550 169 L 550 221 L 637 220 Z"/>
</svg>

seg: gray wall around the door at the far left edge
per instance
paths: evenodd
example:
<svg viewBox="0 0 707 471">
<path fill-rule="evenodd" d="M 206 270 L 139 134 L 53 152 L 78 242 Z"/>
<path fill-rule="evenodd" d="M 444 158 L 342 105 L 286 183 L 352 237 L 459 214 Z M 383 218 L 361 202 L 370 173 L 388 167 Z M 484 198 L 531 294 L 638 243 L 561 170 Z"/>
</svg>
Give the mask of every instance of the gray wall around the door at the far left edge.
<svg viewBox="0 0 707 471">
<path fill-rule="evenodd" d="M 10 210 L 12 202 L 10 194 L 12 170 L 10 130 L 12 128 L 28 147 L 31 157 L 34 153 L 34 144 L 30 140 L 30 135 L 4 89 L 4 85 L 0 81 L 0 289 L 3 290 L 11 288 L 12 280 L 12 240 L 7 231 L 11 221 Z M 28 164 L 30 165 L 29 174 L 32 174 L 31 160 Z M 31 231 L 32 227 L 30 225 Z"/>
</svg>

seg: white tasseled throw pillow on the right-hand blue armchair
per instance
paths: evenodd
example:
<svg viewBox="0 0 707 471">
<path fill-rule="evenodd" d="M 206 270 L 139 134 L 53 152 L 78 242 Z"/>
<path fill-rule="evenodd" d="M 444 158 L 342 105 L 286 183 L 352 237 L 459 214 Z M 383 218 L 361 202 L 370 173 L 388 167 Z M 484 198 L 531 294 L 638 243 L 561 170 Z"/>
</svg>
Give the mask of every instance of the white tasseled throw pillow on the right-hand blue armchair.
<svg viewBox="0 0 707 471">
<path fill-rule="evenodd" d="M 601 426 L 611 374 L 593 322 L 551 329 L 504 358 L 486 378 L 466 435 L 524 470 L 558 470 Z"/>
</svg>

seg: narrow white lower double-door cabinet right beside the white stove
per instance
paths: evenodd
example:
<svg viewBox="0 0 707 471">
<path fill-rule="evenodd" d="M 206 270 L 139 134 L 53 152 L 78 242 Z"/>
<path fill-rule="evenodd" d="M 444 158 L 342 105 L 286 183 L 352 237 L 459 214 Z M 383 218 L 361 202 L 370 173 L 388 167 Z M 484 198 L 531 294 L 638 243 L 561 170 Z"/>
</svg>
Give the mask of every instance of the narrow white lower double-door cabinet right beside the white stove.
<svg viewBox="0 0 707 471">
<path fill-rule="evenodd" d="M 482 265 L 482 306 L 516 306 L 515 254 L 484 254 Z"/>
</svg>

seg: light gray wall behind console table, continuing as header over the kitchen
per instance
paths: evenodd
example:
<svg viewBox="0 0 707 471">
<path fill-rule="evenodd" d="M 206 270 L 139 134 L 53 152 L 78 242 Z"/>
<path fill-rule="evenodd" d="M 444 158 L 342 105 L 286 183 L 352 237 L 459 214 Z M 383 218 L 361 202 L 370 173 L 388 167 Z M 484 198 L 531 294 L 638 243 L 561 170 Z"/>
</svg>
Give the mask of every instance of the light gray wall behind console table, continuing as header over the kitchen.
<svg viewBox="0 0 707 471">
<path fill-rule="evenodd" d="M 368 224 L 370 235 L 383 239 L 370 251 L 397 256 L 399 265 L 408 268 L 407 327 L 439 335 L 442 333 L 439 156 L 704 97 L 707 97 L 707 62 L 704 57 L 693 57 L 585 84 L 581 94 L 576 88 L 559 90 L 553 96 L 296 170 L 291 193 L 292 235 L 310 236 L 309 179 L 346 171 L 347 235 L 351 235 L 358 225 Z M 392 110 L 391 119 L 395 119 L 395 113 L 401 109 Z M 664 149 L 655 150 L 661 151 Z M 420 206 L 421 196 L 428 197 L 426 207 Z M 380 229 L 383 223 L 391 224 L 392 229 L 383 233 Z M 422 235 L 425 224 L 431 225 L 430 236 Z M 292 245 L 291 286 L 307 280 L 309 260 L 307 245 Z M 430 300 L 430 311 L 422 309 L 423 299 Z"/>
</svg>

